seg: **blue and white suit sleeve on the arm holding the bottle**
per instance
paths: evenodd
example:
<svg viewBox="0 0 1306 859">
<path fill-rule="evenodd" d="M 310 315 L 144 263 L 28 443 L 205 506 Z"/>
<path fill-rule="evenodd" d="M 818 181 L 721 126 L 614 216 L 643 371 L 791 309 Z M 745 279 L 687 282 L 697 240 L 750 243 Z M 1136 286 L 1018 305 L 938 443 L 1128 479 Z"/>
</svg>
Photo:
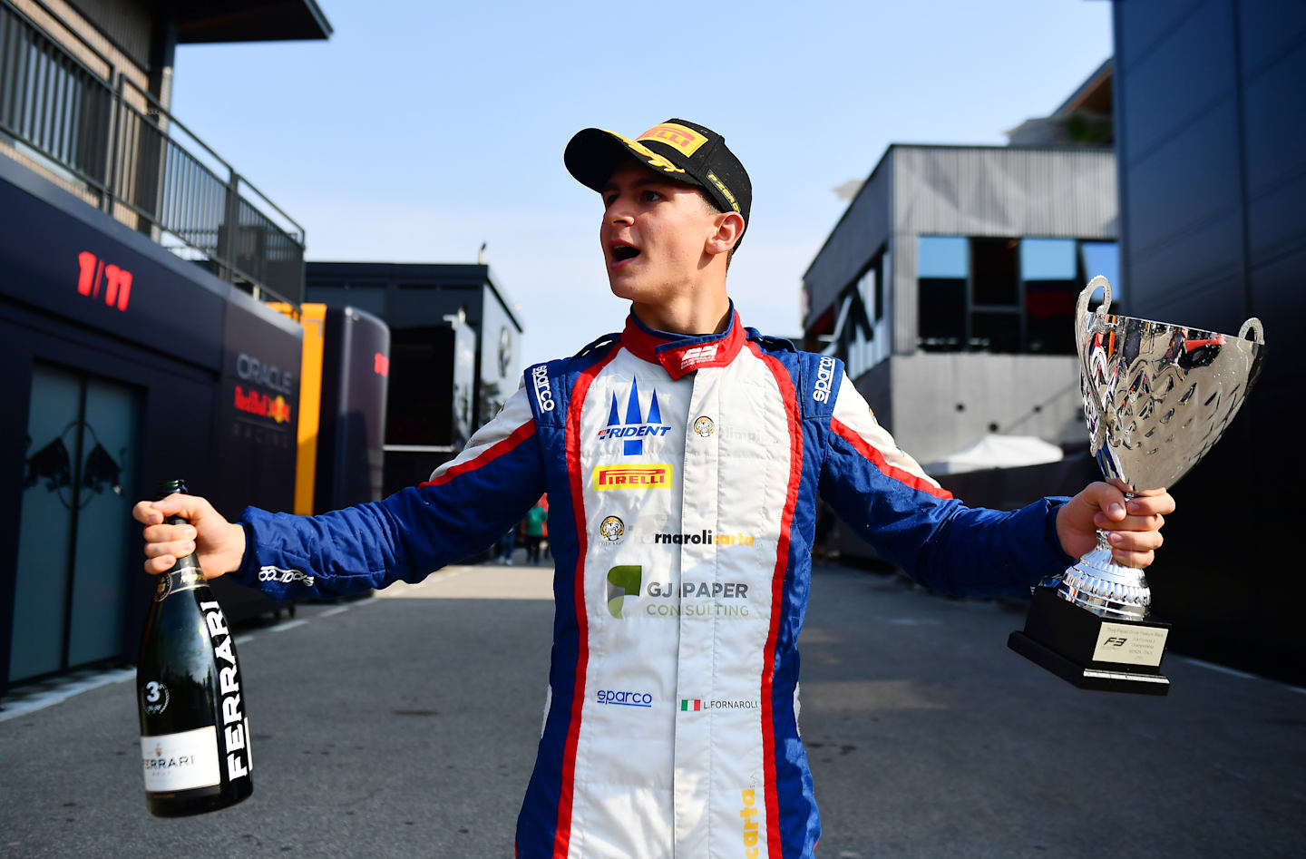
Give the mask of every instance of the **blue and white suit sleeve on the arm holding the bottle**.
<svg viewBox="0 0 1306 859">
<path fill-rule="evenodd" d="M 543 492 L 535 424 L 518 390 L 426 483 L 320 516 L 246 508 L 234 574 L 274 599 L 417 582 L 503 537 Z"/>
</svg>

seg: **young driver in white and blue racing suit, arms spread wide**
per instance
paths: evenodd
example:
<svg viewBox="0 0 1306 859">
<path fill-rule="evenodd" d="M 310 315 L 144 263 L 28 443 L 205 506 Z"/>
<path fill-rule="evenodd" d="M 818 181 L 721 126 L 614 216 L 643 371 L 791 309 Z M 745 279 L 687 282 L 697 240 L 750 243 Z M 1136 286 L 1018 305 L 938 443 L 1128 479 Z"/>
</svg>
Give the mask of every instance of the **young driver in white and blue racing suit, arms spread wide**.
<svg viewBox="0 0 1306 859">
<path fill-rule="evenodd" d="M 955 593 L 1019 591 L 1113 530 L 1138 567 L 1165 492 L 1094 483 L 1002 513 L 952 499 L 876 424 L 838 360 L 744 329 L 726 294 L 752 191 L 720 134 L 679 119 L 594 128 L 568 170 L 603 200 L 626 330 L 532 367 L 426 483 L 323 516 L 142 501 L 146 570 L 199 547 L 273 597 L 418 581 L 549 493 L 552 664 L 520 856 L 810 856 L 798 633 L 816 499 L 880 555 Z M 180 514 L 189 526 L 162 525 Z M 999 646 L 996 642 L 995 648 Z"/>
</svg>

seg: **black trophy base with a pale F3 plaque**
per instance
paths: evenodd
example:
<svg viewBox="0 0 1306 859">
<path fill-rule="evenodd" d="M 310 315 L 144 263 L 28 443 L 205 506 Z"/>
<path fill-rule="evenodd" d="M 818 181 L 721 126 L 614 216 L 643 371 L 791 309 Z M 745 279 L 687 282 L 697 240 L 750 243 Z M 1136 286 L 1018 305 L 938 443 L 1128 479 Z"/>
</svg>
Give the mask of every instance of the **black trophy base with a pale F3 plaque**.
<svg viewBox="0 0 1306 859">
<path fill-rule="evenodd" d="M 1161 655 L 1169 632 L 1158 620 L 1107 620 L 1036 587 L 1025 629 L 1007 646 L 1080 689 L 1168 695 Z"/>
</svg>

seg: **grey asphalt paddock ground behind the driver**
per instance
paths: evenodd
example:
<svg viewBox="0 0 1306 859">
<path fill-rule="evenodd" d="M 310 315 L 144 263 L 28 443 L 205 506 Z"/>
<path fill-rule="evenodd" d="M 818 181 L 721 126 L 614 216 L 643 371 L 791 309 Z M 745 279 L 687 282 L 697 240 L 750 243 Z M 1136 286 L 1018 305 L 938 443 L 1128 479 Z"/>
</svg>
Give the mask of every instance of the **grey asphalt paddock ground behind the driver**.
<svg viewBox="0 0 1306 859">
<path fill-rule="evenodd" d="M 146 813 L 129 680 L 10 706 L 0 855 L 511 856 L 550 577 L 453 568 L 247 631 L 255 792 L 200 817 Z M 801 727 L 818 856 L 1306 855 L 1306 693 L 1173 653 L 1168 697 L 1081 692 L 1007 650 L 1021 623 L 816 568 Z"/>
</svg>

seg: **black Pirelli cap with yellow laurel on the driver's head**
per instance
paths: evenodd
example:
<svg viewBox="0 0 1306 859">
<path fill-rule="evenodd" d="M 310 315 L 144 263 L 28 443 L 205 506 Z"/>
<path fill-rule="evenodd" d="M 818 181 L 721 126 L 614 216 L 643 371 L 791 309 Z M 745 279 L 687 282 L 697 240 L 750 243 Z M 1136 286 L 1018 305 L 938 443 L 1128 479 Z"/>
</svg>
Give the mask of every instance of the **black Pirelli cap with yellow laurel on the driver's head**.
<svg viewBox="0 0 1306 859">
<path fill-rule="evenodd" d="M 567 144 L 563 161 L 576 180 L 602 192 L 622 161 L 635 158 L 669 179 L 703 188 L 721 211 L 738 211 L 748 228 L 752 183 L 748 172 L 726 149 L 726 140 L 710 128 L 669 119 L 635 140 L 602 128 L 585 128 Z M 741 239 L 742 240 L 742 239 Z M 735 243 L 735 247 L 739 247 Z"/>
</svg>

